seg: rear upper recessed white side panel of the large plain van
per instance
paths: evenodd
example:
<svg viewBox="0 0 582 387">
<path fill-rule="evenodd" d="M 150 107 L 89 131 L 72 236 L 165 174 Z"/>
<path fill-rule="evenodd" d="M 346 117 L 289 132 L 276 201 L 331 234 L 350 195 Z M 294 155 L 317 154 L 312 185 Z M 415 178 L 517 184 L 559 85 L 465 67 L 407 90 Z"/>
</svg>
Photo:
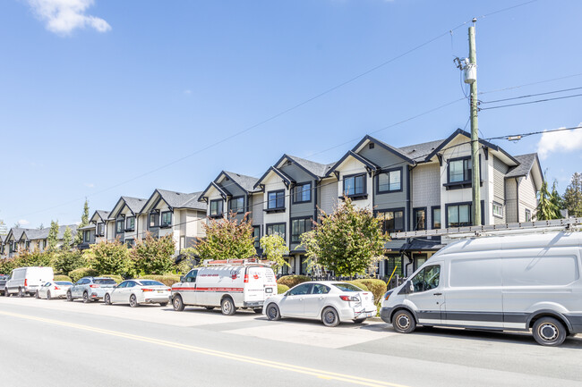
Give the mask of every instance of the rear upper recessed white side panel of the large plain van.
<svg viewBox="0 0 582 387">
<path fill-rule="evenodd" d="M 505 286 L 559 286 L 579 278 L 575 256 L 509 257 L 501 261 Z"/>
</svg>

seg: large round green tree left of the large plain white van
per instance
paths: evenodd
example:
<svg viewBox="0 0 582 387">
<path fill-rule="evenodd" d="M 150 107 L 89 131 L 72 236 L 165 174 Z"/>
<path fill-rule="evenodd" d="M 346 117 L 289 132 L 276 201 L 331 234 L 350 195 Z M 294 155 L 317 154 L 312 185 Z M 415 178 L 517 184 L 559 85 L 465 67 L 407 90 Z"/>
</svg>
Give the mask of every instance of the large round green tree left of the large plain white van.
<svg viewBox="0 0 582 387">
<path fill-rule="evenodd" d="M 323 266 L 338 275 L 364 274 L 383 255 L 388 240 L 381 222 L 349 198 L 330 215 L 320 210 L 320 223 L 301 235 L 310 266 Z"/>
</svg>

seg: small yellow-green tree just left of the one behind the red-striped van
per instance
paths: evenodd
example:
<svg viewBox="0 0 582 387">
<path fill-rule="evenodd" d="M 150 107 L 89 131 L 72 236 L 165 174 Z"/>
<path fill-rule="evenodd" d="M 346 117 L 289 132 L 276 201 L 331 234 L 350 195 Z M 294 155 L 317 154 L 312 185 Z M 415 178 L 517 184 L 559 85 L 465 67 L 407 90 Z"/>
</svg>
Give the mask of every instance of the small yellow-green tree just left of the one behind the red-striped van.
<svg viewBox="0 0 582 387">
<path fill-rule="evenodd" d="M 130 250 L 133 266 L 139 274 L 165 274 L 174 266 L 175 241 L 171 234 L 156 239 L 148 232 L 145 240 L 136 240 Z"/>
</svg>

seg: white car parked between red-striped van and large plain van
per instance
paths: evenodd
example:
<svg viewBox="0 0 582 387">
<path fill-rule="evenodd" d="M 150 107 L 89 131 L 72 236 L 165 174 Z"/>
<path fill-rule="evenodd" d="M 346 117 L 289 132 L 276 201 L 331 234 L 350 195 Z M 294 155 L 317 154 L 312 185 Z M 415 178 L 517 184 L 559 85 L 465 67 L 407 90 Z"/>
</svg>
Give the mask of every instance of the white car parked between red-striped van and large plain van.
<svg viewBox="0 0 582 387">
<path fill-rule="evenodd" d="M 343 321 L 362 323 L 378 312 L 372 292 L 341 281 L 304 282 L 265 300 L 263 314 L 270 320 L 299 317 L 321 320 L 326 326 Z"/>
</svg>

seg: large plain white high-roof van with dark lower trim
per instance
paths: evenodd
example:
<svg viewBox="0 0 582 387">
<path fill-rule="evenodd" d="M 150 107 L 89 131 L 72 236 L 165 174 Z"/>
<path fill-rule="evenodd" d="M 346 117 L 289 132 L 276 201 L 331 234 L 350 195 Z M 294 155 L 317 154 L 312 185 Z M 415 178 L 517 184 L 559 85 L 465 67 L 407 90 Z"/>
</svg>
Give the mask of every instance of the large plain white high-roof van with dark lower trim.
<svg viewBox="0 0 582 387">
<path fill-rule="evenodd" d="M 460 240 L 442 248 L 382 301 L 402 333 L 416 325 L 532 330 L 542 345 L 582 332 L 582 232 Z"/>
</svg>

